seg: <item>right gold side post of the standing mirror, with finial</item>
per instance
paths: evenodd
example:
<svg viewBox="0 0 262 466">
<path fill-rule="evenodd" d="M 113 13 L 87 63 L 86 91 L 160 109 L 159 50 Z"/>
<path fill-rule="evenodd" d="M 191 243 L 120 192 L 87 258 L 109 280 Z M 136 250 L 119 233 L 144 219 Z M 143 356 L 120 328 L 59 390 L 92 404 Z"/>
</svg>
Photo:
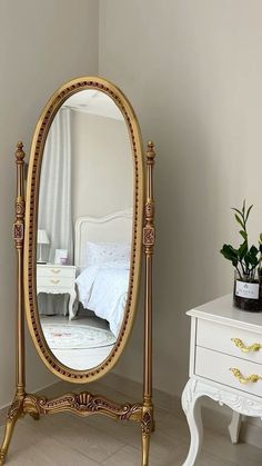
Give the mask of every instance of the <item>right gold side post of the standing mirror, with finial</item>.
<svg viewBox="0 0 262 466">
<path fill-rule="evenodd" d="M 154 248 L 153 166 L 154 145 L 147 147 L 147 200 L 144 206 L 143 249 L 145 255 L 144 369 L 142 412 L 142 466 L 149 465 L 150 435 L 154 428 L 152 404 L 152 261 Z"/>
</svg>

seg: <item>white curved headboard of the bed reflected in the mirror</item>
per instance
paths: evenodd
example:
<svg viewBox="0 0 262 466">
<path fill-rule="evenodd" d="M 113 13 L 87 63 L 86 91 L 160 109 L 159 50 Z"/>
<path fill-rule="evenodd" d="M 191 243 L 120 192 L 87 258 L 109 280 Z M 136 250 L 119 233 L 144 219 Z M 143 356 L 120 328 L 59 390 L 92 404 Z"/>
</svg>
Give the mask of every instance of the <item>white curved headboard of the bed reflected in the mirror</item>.
<svg viewBox="0 0 262 466">
<path fill-rule="evenodd" d="M 132 240 L 132 209 L 105 217 L 79 217 L 75 221 L 74 265 L 87 266 L 87 241 L 122 242 Z"/>
</svg>

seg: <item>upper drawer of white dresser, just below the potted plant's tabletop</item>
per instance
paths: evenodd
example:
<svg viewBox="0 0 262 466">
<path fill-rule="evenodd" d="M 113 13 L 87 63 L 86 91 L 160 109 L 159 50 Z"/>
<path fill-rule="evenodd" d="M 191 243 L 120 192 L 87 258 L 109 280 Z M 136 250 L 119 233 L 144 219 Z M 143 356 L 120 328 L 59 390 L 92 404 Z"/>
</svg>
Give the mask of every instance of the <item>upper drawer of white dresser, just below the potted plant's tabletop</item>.
<svg viewBox="0 0 262 466">
<path fill-rule="evenodd" d="M 239 344 L 243 348 L 238 347 L 236 343 L 232 341 L 232 338 L 241 340 Z M 254 350 L 254 344 L 262 345 L 262 335 L 210 320 L 198 319 L 198 346 L 262 364 L 262 349 Z"/>
</svg>

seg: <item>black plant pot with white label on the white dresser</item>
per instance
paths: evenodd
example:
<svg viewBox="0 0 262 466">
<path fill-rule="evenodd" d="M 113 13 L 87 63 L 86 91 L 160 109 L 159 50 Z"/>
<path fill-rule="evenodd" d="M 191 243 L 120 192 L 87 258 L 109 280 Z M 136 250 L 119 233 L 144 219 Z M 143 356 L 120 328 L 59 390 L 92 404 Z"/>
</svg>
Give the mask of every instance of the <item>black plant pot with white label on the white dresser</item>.
<svg viewBox="0 0 262 466">
<path fill-rule="evenodd" d="M 234 277 L 234 306 L 250 313 L 262 311 L 262 277 L 243 280 L 235 274 Z"/>
</svg>

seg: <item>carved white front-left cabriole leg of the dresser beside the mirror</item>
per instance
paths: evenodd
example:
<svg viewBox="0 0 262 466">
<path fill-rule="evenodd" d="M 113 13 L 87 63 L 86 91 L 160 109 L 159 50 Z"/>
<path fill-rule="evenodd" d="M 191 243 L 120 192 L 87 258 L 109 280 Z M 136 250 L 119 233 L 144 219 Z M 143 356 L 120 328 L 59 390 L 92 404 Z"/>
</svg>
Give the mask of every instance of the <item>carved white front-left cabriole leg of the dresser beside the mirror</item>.
<svg viewBox="0 0 262 466">
<path fill-rule="evenodd" d="M 194 380 L 189 380 L 182 394 L 182 407 L 190 428 L 190 450 L 183 466 L 194 466 L 203 442 L 201 404 L 194 395 Z"/>
</svg>

